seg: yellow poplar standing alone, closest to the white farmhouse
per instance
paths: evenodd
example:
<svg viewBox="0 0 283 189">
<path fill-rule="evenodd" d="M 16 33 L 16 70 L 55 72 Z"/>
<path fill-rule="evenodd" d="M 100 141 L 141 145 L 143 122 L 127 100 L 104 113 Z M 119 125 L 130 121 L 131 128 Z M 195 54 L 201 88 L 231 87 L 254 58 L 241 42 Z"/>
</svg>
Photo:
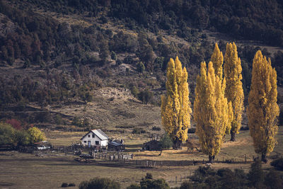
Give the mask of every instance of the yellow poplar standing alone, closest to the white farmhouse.
<svg viewBox="0 0 283 189">
<path fill-rule="evenodd" d="M 180 149 L 182 142 L 187 140 L 191 113 L 187 69 L 182 69 L 176 57 L 175 61 L 170 59 L 168 62 L 166 96 L 161 96 L 162 125 L 175 149 Z"/>
</svg>

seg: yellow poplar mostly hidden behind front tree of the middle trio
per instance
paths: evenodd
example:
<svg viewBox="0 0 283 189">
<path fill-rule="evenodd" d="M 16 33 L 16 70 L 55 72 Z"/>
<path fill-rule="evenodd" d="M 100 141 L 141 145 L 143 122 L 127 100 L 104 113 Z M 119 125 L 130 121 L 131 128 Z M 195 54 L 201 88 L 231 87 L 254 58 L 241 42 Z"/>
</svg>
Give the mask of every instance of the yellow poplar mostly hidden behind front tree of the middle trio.
<svg viewBox="0 0 283 189">
<path fill-rule="evenodd" d="M 219 79 L 222 83 L 222 85 L 224 85 L 225 87 L 223 87 L 223 89 L 225 90 L 226 88 L 226 78 L 223 78 L 223 54 L 222 52 L 219 50 L 219 47 L 217 45 L 217 43 L 215 43 L 214 46 L 214 51 L 212 53 L 212 57 L 211 57 L 211 61 L 213 63 L 213 68 L 214 68 L 214 72 L 216 74 L 216 76 L 219 76 Z M 226 131 L 225 134 L 229 134 L 230 130 L 231 130 L 231 121 L 233 120 L 233 108 L 232 108 L 232 103 L 229 102 L 228 103 L 228 122 L 226 125 Z M 224 135 L 225 137 L 225 135 Z"/>
</svg>

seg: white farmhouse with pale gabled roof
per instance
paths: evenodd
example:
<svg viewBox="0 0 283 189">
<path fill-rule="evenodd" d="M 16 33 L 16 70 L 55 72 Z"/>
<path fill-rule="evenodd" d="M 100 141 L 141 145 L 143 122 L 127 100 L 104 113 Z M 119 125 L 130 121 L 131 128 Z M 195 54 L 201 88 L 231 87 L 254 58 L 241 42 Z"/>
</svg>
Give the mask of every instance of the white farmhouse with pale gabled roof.
<svg viewBox="0 0 283 189">
<path fill-rule="evenodd" d="M 81 138 L 83 147 L 107 147 L 109 137 L 102 130 L 91 130 Z"/>
</svg>

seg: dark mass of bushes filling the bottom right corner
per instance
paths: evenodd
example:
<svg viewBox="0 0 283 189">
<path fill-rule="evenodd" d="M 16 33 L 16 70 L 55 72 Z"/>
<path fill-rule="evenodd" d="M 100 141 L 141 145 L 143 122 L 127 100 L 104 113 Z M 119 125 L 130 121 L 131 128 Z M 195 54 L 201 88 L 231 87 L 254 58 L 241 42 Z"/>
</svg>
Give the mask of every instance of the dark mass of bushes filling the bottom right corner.
<svg viewBox="0 0 283 189">
<path fill-rule="evenodd" d="M 265 172 L 260 161 L 255 161 L 248 173 L 241 169 L 220 168 L 216 171 L 199 167 L 191 177 L 192 183 L 183 183 L 180 188 L 185 185 L 187 188 L 282 188 L 282 179 L 282 174 L 272 169 Z"/>
</svg>

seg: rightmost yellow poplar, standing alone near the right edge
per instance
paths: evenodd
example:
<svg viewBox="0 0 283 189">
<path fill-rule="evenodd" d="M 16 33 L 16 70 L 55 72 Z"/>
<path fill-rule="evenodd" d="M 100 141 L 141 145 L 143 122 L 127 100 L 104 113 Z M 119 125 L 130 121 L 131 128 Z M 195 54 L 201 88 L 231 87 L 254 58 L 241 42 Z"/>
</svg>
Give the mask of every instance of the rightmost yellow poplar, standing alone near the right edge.
<svg viewBox="0 0 283 189">
<path fill-rule="evenodd" d="M 270 59 L 256 52 L 253 59 L 252 81 L 248 95 L 248 127 L 253 137 L 255 152 L 266 155 L 273 151 L 277 143 L 278 130 L 276 117 L 279 115 L 277 105 L 277 73 L 272 69 Z"/>
</svg>

